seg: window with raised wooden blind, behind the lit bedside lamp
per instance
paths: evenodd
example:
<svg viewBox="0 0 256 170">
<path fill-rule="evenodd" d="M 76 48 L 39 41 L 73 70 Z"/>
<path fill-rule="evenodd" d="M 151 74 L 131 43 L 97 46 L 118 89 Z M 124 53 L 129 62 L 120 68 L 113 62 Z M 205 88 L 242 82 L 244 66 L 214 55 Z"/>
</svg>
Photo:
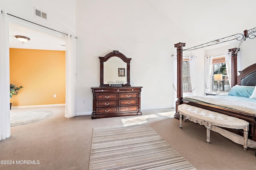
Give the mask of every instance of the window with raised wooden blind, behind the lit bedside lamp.
<svg viewBox="0 0 256 170">
<path fill-rule="evenodd" d="M 222 81 L 219 83 L 220 92 L 228 92 L 230 85 L 226 69 L 225 57 L 220 57 L 212 60 L 212 91 L 217 91 L 218 82 L 214 81 L 214 74 L 222 74 Z"/>
</svg>

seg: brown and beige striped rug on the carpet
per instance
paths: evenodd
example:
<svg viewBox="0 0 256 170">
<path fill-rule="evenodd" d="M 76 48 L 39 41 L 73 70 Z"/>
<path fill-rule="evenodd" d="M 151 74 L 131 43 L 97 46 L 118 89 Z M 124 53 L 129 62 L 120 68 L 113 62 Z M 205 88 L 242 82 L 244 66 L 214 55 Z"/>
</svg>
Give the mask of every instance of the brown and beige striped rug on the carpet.
<svg viewBox="0 0 256 170">
<path fill-rule="evenodd" d="M 149 125 L 93 129 L 90 170 L 196 170 Z"/>
</svg>

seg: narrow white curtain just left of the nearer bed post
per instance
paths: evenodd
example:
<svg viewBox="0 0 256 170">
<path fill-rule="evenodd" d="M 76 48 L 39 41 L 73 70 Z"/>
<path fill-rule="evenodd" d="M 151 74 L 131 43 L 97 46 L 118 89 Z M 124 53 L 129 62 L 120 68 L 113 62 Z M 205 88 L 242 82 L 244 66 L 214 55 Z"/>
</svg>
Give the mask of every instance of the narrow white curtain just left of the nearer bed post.
<svg viewBox="0 0 256 170">
<path fill-rule="evenodd" d="M 172 107 L 176 107 L 175 103 L 177 101 L 177 56 L 172 55 L 172 86 L 173 86 L 173 102 Z"/>
</svg>

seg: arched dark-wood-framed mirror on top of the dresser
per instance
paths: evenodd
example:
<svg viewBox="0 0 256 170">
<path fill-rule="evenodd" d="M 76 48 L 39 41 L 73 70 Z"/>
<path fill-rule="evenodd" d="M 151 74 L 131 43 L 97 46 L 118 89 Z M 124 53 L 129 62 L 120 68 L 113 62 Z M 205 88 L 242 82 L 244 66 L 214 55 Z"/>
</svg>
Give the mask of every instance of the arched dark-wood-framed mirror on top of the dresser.
<svg viewBox="0 0 256 170">
<path fill-rule="evenodd" d="M 130 61 L 114 50 L 100 59 L 100 87 L 130 86 Z"/>
</svg>

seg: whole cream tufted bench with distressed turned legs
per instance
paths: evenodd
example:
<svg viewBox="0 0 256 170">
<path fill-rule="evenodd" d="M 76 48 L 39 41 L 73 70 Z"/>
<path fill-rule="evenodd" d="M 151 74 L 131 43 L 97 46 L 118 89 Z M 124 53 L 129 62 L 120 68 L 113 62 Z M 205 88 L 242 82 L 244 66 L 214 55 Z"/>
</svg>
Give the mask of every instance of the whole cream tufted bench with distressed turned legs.
<svg viewBox="0 0 256 170">
<path fill-rule="evenodd" d="M 182 128 L 182 115 L 196 119 L 206 123 L 206 135 L 207 143 L 210 143 L 210 128 L 212 125 L 218 127 L 226 127 L 232 129 L 243 129 L 244 130 L 244 150 L 247 150 L 247 140 L 249 123 L 245 120 L 238 119 L 236 117 L 224 115 L 214 111 L 202 109 L 200 107 L 190 106 L 188 104 L 181 104 L 178 106 L 178 111 L 180 113 L 180 128 Z"/>
</svg>

